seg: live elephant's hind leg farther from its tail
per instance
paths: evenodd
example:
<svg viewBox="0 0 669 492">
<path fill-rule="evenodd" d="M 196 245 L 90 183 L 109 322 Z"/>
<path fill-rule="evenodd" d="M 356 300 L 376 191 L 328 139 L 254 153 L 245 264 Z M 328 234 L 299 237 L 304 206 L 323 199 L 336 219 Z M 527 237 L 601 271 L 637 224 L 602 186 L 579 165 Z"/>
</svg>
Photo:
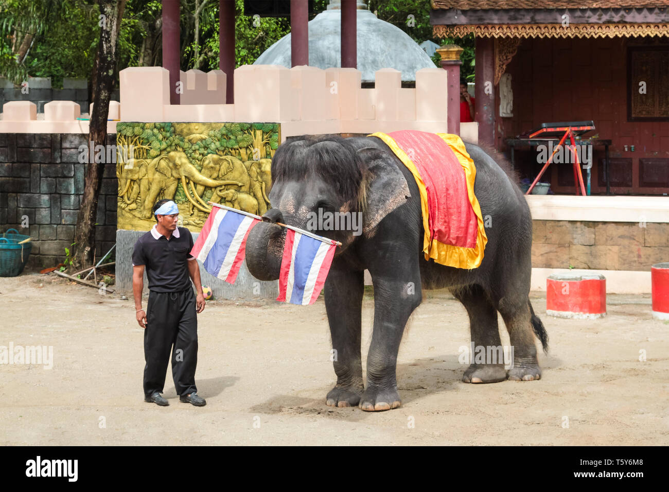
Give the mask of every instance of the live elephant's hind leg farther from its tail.
<svg viewBox="0 0 669 492">
<path fill-rule="evenodd" d="M 497 325 L 497 310 L 490 302 L 488 295 L 480 285 L 470 285 L 451 292 L 467 310 L 474 345 L 474 351 L 470 354 L 471 364 L 464 372 L 462 381 L 496 383 L 506 380 L 503 352 L 501 352 L 502 341 Z M 481 354 L 480 351 L 483 353 Z M 477 354 L 478 357 L 476 357 Z M 488 360 L 488 354 L 491 360 Z M 494 357 L 494 363 L 492 363 L 492 357 Z"/>
</svg>

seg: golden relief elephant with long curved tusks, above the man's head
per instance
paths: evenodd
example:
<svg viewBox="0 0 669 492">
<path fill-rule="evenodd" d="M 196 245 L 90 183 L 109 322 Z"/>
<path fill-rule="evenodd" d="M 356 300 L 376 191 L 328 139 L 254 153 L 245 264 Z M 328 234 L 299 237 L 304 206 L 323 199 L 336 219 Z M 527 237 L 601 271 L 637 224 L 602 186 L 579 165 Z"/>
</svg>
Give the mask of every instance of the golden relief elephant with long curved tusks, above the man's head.
<svg viewBox="0 0 669 492">
<path fill-rule="evenodd" d="M 195 199 L 191 197 L 186 178 L 190 179 L 193 183 L 196 183 L 198 187 L 202 187 L 203 189 L 205 186 L 216 188 L 225 185 L 240 185 L 240 182 L 236 180 L 209 179 L 209 177 L 206 177 L 197 171 L 195 166 L 188 160 L 185 153 L 177 151 L 162 154 L 153 159 L 147 166 L 147 178 L 149 179 L 149 191 L 144 199 L 142 207 L 142 216 L 147 219 L 151 217 L 151 208 L 159 193 L 163 192 L 165 197 L 172 198 L 177 191 L 179 181 L 181 181 L 183 191 L 191 203 L 200 210 L 209 212 L 209 210 L 205 208 L 206 203 L 197 203 L 197 201 L 195 201 L 196 199 L 201 201 L 199 198 L 201 193 L 198 193 Z"/>
</svg>

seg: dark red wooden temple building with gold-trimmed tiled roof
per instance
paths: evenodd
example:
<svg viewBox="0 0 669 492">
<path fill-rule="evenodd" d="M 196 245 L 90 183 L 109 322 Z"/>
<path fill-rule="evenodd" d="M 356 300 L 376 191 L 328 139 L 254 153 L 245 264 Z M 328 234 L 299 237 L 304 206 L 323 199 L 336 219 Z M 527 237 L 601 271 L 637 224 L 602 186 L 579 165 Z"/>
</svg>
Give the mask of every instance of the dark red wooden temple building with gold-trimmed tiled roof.
<svg viewBox="0 0 669 492">
<path fill-rule="evenodd" d="M 669 0 L 432 0 L 430 21 L 438 37 L 474 34 L 479 141 L 523 175 L 541 169 L 523 135 L 593 121 L 592 194 L 669 193 Z M 570 166 L 543 181 L 573 193 Z"/>
</svg>

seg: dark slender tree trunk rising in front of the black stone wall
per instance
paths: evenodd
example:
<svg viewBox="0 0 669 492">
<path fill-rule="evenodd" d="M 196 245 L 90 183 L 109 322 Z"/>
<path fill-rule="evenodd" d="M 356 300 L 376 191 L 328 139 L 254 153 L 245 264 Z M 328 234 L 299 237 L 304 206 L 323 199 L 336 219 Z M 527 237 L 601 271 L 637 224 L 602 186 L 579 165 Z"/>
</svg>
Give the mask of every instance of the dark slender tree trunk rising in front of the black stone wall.
<svg viewBox="0 0 669 492">
<path fill-rule="evenodd" d="M 116 77 L 116 48 L 118 29 L 126 0 L 98 0 L 100 13 L 103 15 L 98 43 L 98 70 L 93 86 L 93 113 L 90 115 L 90 134 L 88 140 L 94 146 L 106 145 L 107 115 L 109 98 Z M 104 147 L 106 149 L 106 147 Z M 98 210 L 98 195 L 102 188 L 104 162 L 96 163 L 93 155 L 88 156 L 88 169 L 84 179 L 84 196 L 74 230 L 74 254 L 72 268 L 82 270 L 92 264 L 92 252 L 95 243 L 95 218 Z M 106 152 L 104 153 L 106 155 Z M 102 159 L 104 161 L 104 159 Z M 101 252 L 104 254 L 104 252 Z"/>
</svg>

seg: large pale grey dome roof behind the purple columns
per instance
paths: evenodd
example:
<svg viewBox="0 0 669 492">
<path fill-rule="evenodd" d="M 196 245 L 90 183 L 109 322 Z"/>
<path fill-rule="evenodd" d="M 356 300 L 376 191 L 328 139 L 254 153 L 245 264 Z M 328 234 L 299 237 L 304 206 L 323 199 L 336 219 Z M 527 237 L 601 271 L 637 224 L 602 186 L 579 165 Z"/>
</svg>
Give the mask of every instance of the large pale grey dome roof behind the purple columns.
<svg viewBox="0 0 669 492">
<path fill-rule="evenodd" d="M 326 69 L 341 66 L 341 10 L 322 11 L 309 24 L 309 65 Z M 415 80 L 416 70 L 435 68 L 434 62 L 404 31 L 377 19 L 367 9 L 357 10 L 358 70 L 363 82 L 374 82 L 374 72 L 394 68 L 402 80 Z M 268 48 L 254 65 L 290 68 L 290 34 Z"/>
</svg>

